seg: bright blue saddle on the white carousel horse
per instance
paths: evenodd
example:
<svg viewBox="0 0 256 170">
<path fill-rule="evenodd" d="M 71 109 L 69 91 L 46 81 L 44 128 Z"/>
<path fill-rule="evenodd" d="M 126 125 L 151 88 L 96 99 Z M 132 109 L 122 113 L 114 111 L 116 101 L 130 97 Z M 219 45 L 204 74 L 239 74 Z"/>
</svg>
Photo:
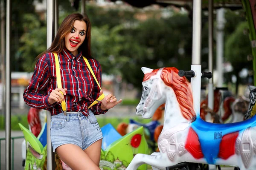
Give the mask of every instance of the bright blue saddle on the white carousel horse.
<svg viewBox="0 0 256 170">
<path fill-rule="evenodd" d="M 191 124 L 192 129 L 198 135 L 202 153 L 208 164 L 215 164 L 222 136 L 254 126 L 256 126 L 256 116 L 243 122 L 228 124 L 209 123 L 197 117 L 195 122 Z"/>
</svg>

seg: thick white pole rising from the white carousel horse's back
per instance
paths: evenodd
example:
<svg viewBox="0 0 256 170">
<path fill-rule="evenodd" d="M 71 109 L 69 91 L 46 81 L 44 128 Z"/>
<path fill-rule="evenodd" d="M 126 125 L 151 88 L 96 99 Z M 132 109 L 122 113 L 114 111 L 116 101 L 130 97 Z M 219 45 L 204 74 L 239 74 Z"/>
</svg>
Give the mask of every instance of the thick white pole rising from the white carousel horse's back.
<svg viewBox="0 0 256 170">
<path fill-rule="evenodd" d="M 202 0 L 194 0 L 193 3 L 193 40 L 192 40 L 192 65 L 195 77 L 191 78 L 193 102 L 195 113 L 200 113 L 201 93 L 201 14 Z"/>
</svg>

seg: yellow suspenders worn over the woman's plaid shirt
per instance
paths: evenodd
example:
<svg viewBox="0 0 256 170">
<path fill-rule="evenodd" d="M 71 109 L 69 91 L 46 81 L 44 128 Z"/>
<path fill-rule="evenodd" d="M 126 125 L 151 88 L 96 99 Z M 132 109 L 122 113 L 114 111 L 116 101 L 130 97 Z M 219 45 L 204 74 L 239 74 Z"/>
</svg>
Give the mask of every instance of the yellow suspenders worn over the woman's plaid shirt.
<svg viewBox="0 0 256 170">
<path fill-rule="evenodd" d="M 59 61 L 58 61 L 58 55 L 57 55 L 56 53 L 53 53 L 53 54 L 54 54 L 54 57 L 55 57 L 57 87 L 58 87 L 58 88 L 62 88 L 62 85 L 61 85 L 61 71 L 60 71 L 60 64 L 59 64 Z M 89 64 L 89 62 L 88 62 L 88 60 L 87 60 L 87 58 L 84 57 L 84 56 L 83 56 L 83 58 L 84 58 L 84 61 L 86 62 L 87 67 L 89 68 L 91 74 L 93 75 L 95 81 L 97 82 L 97 84 L 98 84 L 98 86 L 99 86 L 99 89 L 102 90 L 101 87 L 100 87 L 100 85 L 99 85 L 98 80 L 96 79 L 96 77 L 95 77 L 95 75 L 94 75 L 94 73 L 93 73 L 93 70 L 92 70 L 92 68 L 91 68 L 91 66 L 90 66 L 90 64 Z M 61 91 L 60 91 L 60 92 L 61 92 Z M 61 94 L 63 94 L 63 93 L 61 92 Z M 102 99 L 104 99 L 104 97 L 105 97 L 104 94 L 102 94 L 101 96 L 99 96 L 99 98 L 96 99 L 96 100 L 88 107 L 88 109 L 91 108 L 91 107 L 92 107 L 93 105 L 95 105 L 96 103 L 100 102 Z M 62 106 L 62 110 L 63 110 L 64 112 L 66 112 L 67 109 L 66 109 L 66 102 L 65 102 L 65 101 L 62 101 L 62 102 L 61 102 L 61 106 Z"/>
</svg>

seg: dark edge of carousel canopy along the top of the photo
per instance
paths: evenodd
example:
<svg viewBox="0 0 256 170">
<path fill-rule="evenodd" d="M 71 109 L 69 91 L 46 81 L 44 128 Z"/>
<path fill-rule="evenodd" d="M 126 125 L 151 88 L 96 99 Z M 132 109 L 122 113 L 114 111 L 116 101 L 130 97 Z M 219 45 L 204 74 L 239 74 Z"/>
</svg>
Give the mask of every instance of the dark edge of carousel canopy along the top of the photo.
<svg viewBox="0 0 256 170">
<path fill-rule="evenodd" d="M 115 2 L 117 0 L 111 0 Z M 122 0 L 131 6 L 135 6 L 138 8 L 143 8 L 145 6 L 150 6 L 153 4 L 158 4 L 160 6 L 177 6 L 177 7 L 192 7 L 193 0 Z M 242 3 L 241 0 L 213 0 L 214 8 L 230 8 L 230 9 L 241 9 Z M 208 0 L 202 0 L 202 8 L 208 9 Z"/>
</svg>

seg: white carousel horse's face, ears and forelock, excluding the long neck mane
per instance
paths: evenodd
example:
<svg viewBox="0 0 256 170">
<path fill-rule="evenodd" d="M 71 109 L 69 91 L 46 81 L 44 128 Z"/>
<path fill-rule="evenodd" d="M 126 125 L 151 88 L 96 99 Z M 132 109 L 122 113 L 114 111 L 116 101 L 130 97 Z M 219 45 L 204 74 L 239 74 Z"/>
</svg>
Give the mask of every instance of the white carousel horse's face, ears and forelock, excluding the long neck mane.
<svg viewBox="0 0 256 170">
<path fill-rule="evenodd" d="M 143 92 L 136 108 L 136 114 L 141 115 L 144 119 L 149 119 L 154 115 L 156 109 L 165 102 L 163 81 L 160 78 L 163 68 L 152 70 L 143 67 L 141 69 L 145 76 L 142 82 Z"/>
</svg>

